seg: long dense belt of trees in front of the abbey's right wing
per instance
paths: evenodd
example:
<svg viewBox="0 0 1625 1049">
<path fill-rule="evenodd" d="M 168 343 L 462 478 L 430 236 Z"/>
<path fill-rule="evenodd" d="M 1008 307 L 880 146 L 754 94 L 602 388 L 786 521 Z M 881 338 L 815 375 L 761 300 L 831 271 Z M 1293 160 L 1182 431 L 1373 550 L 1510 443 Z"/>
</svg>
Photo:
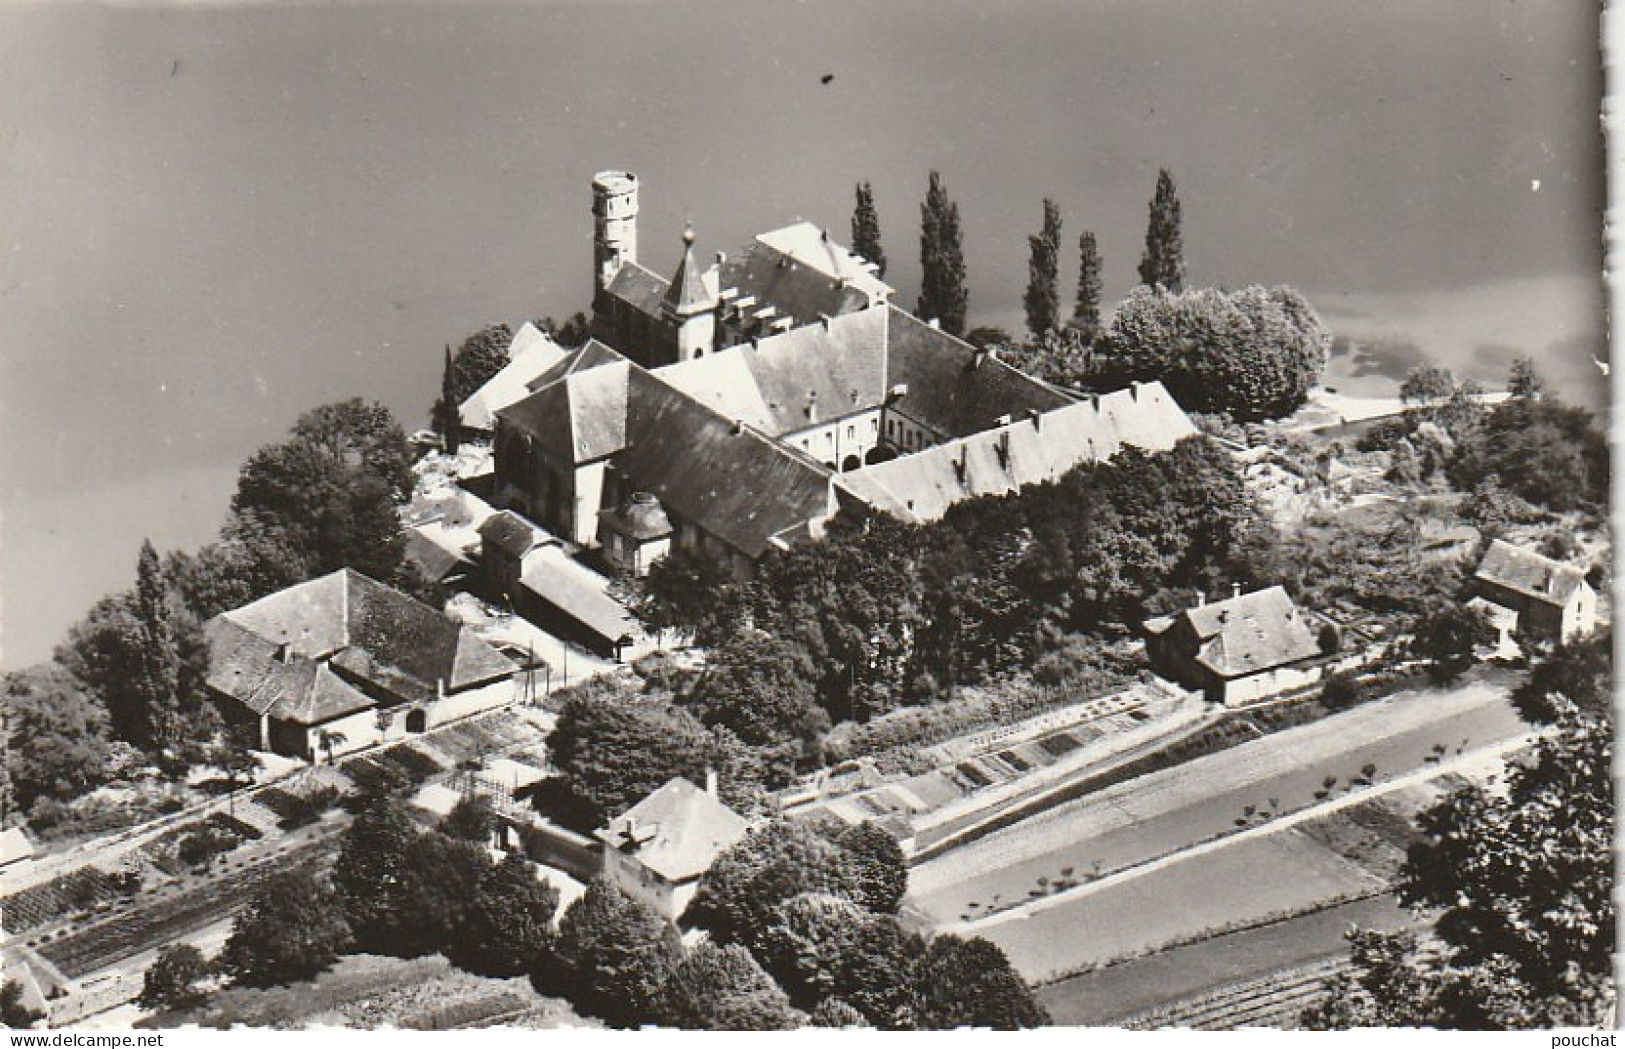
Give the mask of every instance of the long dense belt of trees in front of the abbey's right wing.
<svg viewBox="0 0 1625 1049">
<path fill-rule="evenodd" d="M 824 724 L 809 700 L 829 721 L 863 721 L 1061 648 L 1089 661 L 1087 645 L 1069 638 L 1121 633 L 1160 591 L 1251 578 L 1264 562 L 1253 550 L 1268 539 L 1230 456 L 1191 438 L 967 500 L 933 524 L 879 516 L 832 529 L 770 555 L 748 585 L 699 559 L 670 576 L 658 562 L 645 601 L 717 646 L 715 669 L 689 697 L 702 721 L 809 755 Z M 689 591 L 681 609 L 650 596 L 702 578 L 713 588 Z M 1064 667 L 1051 672 L 1064 677 Z"/>
</svg>

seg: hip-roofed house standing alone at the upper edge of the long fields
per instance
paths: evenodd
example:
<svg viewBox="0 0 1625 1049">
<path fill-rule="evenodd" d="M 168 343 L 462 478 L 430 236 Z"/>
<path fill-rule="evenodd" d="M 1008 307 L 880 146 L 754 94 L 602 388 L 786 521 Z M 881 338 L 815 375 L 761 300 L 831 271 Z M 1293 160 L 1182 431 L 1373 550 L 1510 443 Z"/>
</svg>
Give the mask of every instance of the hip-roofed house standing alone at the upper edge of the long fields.
<svg viewBox="0 0 1625 1049">
<path fill-rule="evenodd" d="M 1142 624 L 1152 669 L 1214 703 L 1242 706 L 1320 680 L 1320 624 L 1280 586 L 1204 601 Z"/>
</svg>

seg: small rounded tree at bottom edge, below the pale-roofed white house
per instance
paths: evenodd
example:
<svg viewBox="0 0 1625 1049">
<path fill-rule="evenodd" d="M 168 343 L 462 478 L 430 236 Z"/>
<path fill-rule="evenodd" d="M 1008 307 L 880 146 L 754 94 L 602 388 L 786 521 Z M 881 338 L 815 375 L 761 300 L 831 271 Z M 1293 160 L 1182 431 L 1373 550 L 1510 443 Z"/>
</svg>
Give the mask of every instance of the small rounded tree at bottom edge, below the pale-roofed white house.
<svg viewBox="0 0 1625 1049">
<path fill-rule="evenodd" d="M 666 982 L 666 1021 L 684 1030 L 788 1031 L 790 999 L 738 943 L 700 940 Z"/>
</svg>

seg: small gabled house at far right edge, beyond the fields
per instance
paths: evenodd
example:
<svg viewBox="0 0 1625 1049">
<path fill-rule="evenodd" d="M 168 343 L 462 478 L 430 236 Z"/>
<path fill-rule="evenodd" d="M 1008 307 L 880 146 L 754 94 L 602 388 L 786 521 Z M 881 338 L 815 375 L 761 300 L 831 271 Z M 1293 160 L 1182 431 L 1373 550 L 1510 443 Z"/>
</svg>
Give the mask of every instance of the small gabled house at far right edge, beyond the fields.
<svg viewBox="0 0 1625 1049">
<path fill-rule="evenodd" d="M 1573 641 L 1597 628 L 1597 591 L 1586 573 L 1550 557 L 1495 539 L 1472 573 L 1477 598 L 1497 606 L 1492 620 L 1547 641 Z"/>
</svg>

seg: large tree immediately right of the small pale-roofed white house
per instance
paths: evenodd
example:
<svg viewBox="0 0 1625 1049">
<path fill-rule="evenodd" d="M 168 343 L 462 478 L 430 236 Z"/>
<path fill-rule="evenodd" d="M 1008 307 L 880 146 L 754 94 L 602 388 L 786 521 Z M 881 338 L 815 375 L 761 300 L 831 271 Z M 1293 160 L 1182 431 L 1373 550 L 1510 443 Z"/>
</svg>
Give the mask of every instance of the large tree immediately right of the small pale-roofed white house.
<svg viewBox="0 0 1625 1049">
<path fill-rule="evenodd" d="M 856 885 L 838 846 L 809 827 L 778 820 L 756 827 L 717 857 L 682 919 L 710 930 L 718 943 L 744 943 L 760 956 L 778 904 L 803 893 L 853 900 Z"/>
</svg>

